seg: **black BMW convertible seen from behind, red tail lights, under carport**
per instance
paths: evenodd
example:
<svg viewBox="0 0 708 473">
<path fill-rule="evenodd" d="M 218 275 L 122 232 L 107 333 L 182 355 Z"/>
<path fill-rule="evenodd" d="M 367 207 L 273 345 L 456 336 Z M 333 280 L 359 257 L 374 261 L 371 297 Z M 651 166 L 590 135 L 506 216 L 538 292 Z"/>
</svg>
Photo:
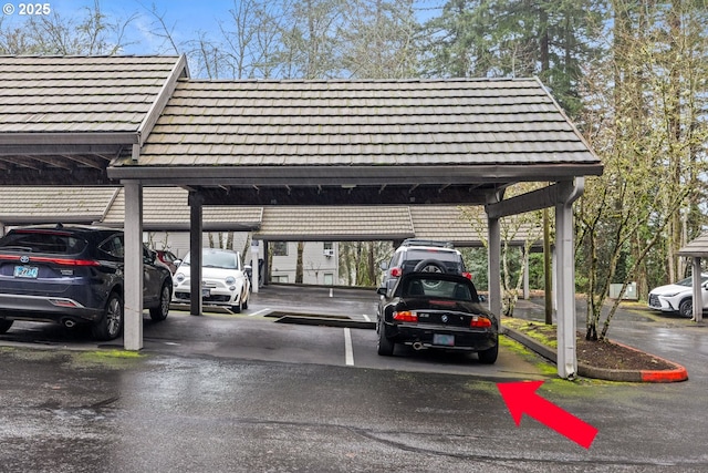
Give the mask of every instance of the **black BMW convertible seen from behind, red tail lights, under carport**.
<svg viewBox="0 0 708 473">
<path fill-rule="evenodd" d="M 476 351 L 482 363 L 497 361 L 499 320 L 479 304 L 468 278 L 409 273 L 378 294 L 378 354 L 392 356 L 395 345 L 404 343 L 416 350 Z"/>
</svg>

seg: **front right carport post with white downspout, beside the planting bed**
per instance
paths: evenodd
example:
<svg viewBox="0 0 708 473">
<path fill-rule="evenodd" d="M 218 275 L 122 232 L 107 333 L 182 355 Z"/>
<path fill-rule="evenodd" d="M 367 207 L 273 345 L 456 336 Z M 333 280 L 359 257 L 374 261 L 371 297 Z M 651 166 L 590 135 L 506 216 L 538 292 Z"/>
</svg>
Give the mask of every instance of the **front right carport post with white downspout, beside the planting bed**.
<svg viewBox="0 0 708 473">
<path fill-rule="evenodd" d="M 579 179 L 580 181 L 580 179 Z M 577 373 L 575 349 L 575 257 L 573 248 L 573 202 L 582 194 L 583 182 L 561 182 L 561 195 L 569 197 L 555 205 L 555 250 L 558 265 L 558 374 L 572 379 Z"/>
</svg>

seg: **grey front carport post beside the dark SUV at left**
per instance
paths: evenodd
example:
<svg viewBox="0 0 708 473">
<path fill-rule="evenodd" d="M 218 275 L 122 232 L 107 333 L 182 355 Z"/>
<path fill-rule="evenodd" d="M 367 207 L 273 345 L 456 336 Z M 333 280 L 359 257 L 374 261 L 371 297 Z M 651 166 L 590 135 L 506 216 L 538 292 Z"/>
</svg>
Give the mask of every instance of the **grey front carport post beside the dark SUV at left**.
<svg viewBox="0 0 708 473">
<path fill-rule="evenodd" d="M 143 185 L 123 183 L 125 189 L 125 288 L 123 343 L 126 350 L 143 348 Z"/>
</svg>

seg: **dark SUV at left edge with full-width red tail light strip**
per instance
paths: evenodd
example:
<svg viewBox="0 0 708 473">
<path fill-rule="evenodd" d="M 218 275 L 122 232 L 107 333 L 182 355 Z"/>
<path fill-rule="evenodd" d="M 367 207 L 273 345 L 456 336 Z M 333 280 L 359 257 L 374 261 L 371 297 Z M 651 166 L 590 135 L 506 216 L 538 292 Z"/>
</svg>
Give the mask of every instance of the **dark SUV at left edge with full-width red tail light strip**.
<svg viewBox="0 0 708 473">
<path fill-rule="evenodd" d="M 91 323 L 98 340 L 123 332 L 124 236 L 115 228 L 43 225 L 0 239 L 0 333 L 14 320 Z M 143 248 L 143 304 L 153 320 L 169 310 L 169 269 Z"/>
</svg>

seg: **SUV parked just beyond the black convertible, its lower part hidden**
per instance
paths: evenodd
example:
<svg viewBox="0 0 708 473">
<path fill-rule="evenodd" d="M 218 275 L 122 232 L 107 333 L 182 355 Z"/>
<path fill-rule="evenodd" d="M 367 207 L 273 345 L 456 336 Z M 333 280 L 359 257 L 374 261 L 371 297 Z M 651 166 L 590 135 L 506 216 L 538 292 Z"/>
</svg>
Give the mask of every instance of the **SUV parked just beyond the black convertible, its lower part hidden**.
<svg viewBox="0 0 708 473">
<path fill-rule="evenodd" d="M 462 255 L 449 241 L 408 238 L 394 253 L 389 263 L 382 263 L 384 277 L 381 287 L 389 290 L 398 278 L 413 271 L 461 275 L 471 279 L 465 269 Z"/>
</svg>

